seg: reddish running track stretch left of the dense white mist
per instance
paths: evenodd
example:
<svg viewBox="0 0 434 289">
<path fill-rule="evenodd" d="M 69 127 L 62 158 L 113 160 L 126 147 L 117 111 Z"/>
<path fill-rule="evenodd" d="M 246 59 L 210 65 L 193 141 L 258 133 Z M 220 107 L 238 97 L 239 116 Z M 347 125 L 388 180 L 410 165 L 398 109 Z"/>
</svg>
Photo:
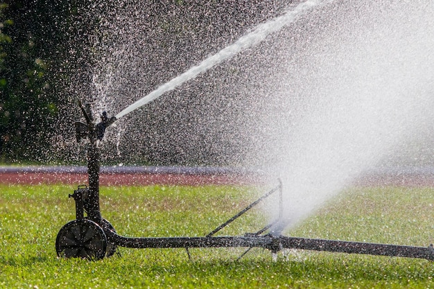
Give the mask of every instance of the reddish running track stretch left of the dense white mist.
<svg viewBox="0 0 434 289">
<path fill-rule="evenodd" d="M 101 186 L 257 184 L 259 173 L 230 168 L 103 167 Z M 1 184 L 87 184 L 87 168 L 73 166 L 0 167 Z"/>
</svg>

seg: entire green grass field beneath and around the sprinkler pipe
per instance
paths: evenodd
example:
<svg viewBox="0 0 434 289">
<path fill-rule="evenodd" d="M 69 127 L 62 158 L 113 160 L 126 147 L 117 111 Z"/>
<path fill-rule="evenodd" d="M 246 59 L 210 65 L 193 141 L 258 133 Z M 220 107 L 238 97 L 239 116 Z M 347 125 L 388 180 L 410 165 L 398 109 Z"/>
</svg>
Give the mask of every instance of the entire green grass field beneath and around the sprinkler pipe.
<svg viewBox="0 0 434 289">
<path fill-rule="evenodd" d="M 272 261 L 240 248 L 127 249 L 102 261 L 58 259 L 55 236 L 75 218 L 72 186 L 0 186 L 0 288 L 434 288 L 434 263 L 286 250 Z M 205 236 L 259 192 L 229 186 L 101 188 L 101 210 L 123 236 Z M 291 236 L 426 246 L 434 189 L 358 188 L 335 198 Z M 222 234 L 255 231 L 258 211 Z"/>
</svg>

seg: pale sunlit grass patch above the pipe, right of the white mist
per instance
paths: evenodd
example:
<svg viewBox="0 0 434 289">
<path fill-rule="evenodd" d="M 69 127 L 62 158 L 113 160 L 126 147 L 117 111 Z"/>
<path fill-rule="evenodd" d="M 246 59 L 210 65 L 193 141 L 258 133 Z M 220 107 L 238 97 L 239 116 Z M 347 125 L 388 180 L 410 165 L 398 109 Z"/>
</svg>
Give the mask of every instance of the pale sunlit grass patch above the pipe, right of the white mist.
<svg viewBox="0 0 434 289">
<path fill-rule="evenodd" d="M 434 189 L 358 188 L 331 200 L 291 234 L 428 246 L 434 243 Z"/>
</svg>

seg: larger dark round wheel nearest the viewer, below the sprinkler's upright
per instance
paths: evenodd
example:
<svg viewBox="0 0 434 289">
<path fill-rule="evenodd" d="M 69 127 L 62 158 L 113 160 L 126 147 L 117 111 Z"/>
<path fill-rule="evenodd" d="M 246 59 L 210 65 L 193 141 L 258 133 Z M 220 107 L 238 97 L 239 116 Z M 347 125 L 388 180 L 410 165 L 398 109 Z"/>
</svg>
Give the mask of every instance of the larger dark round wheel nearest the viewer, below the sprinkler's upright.
<svg viewBox="0 0 434 289">
<path fill-rule="evenodd" d="M 64 225 L 55 240 L 55 250 L 63 258 L 100 260 L 105 256 L 107 237 L 91 220 L 73 220 Z"/>
</svg>

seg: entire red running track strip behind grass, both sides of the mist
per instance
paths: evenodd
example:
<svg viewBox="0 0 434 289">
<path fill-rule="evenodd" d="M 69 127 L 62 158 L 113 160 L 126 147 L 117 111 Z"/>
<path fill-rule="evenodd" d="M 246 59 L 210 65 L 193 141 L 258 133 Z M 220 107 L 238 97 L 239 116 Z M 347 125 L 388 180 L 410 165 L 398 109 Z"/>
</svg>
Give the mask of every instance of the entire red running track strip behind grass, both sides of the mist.
<svg viewBox="0 0 434 289">
<path fill-rule="evenodd" d="M 243 185 L 275 181 L 258 171 L 227 168 L 102 168 L 101 186 L 126 185 Z M 0 167 L 0 184 L 87 184 L 83 167 Z M 356 186 L 434 186 L 434 168 L 371 172 L 355 180 Z"/>
</svg>

